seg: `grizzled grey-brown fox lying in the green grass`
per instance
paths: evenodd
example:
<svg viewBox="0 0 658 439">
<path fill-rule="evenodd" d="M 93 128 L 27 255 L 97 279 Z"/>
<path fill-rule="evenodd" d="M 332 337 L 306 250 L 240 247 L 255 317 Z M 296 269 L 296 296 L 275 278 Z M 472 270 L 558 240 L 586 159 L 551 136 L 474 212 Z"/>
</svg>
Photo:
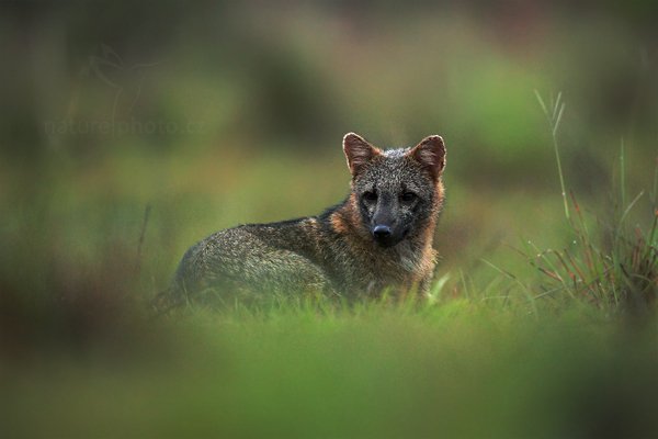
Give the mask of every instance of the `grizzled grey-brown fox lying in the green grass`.
<svg viewBox="0 0 658 439">
<path fill-rule="evenodd" d="M 166 302 L 216 305 L 295 292 L 426 295 L 444 203 L 443 138 L 385 150 L 348 133 L 342 149 L 351 182 L 341 203 L 316 216 L 209 235 L 182 257 Z"/>
</svg>

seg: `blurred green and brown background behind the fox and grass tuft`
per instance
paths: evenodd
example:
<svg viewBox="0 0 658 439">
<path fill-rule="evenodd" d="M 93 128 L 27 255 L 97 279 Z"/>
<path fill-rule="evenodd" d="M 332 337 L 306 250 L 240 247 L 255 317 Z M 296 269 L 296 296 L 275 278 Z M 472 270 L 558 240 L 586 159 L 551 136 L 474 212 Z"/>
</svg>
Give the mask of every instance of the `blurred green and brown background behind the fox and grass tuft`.
<svg viewBox="0 0 658 439">
<path fill-rule="evenodd" d="M 622 145 L 629 196 L 649 192 L 657 22 L 642 0 L 2 1 L 3 351 L 134 340 L 124 299 L 164 289 L 196 240 L 341 201 L 350 131 L 445 139 L 452 296 L 499 275 L 483 258 L 523 275 L 510 246 L 570 239 L 535 92 L 561 92 L 587 210 L 610 210 Z"/>
</svg>

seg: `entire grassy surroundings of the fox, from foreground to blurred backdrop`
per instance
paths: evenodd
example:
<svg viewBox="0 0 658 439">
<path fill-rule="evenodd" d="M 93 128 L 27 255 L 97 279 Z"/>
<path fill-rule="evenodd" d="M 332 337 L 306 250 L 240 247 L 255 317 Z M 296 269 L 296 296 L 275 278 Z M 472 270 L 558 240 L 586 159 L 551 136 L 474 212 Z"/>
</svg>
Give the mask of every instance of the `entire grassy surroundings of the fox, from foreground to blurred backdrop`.
<svg viewBox="0 0 658 439">
<path fill-rule="evenodd" d="M 0 14 L 0 437 L 656 437 L 640 3 Z M 446 140 L 427 303 L 154 314 L 198 239 L 340 202 L 349 131 Z"/>
</svg>

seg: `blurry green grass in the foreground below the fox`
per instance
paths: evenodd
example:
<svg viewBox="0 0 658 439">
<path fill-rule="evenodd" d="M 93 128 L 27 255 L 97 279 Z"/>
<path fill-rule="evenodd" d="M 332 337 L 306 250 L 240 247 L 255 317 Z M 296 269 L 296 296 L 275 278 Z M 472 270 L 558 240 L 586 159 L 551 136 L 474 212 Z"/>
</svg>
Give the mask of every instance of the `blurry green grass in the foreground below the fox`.
<svg viewBox="0 0 658 439">
<path fill-rule="evenodd" d="M 117 323 L 122 325 L 122 323 Z M 324 300 L 3 361 L 9 437 L 646 437 L 656 320 Z M 4 436 L 4 435 L 3 435 Z"/>
</svg>

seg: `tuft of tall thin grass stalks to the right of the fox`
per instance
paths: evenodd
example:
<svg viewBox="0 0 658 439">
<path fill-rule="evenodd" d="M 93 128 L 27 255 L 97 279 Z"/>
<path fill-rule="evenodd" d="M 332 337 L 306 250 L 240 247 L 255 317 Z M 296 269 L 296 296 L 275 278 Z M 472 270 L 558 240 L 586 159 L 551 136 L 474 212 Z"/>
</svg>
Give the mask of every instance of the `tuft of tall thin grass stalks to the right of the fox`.
<svg viewBox="0 0 658 439">
<path fill-rule="evenodd" d="M 538 93 L 536 97 L 551 127 L 565 219 L 569 238 L 572 239 L 561 250 L 543 250 L 532 241 L 524 246 L 522 255 L 546 275 L 541 285 L 544 291 L 541 296 L 567 295 L 570 301 L 585 301 L 608 313 L 631 313 L 633 318 L 640 318 L 640 315 L 654 311 L 658 296 L 658 209 L 655 195 L 649 201 L 649 214 L 642 218 L 645 226 L 636 223 L 631 227 L 631 213 L 645 191 L 640 191 L 631 202 L 626 201 L 626 158 L 622 139 L 620 189 L 612 194 L 613 209 L 605 216 L 586 217 L 587 213 L 572 192 L 569 203 L 565 188 L 557 137 L 565 109 L 565 103 L 560 101 L 561 93 L 552 99 L 551 106 L 546 106 Z M 653 189 L 653 193 L 655 191 Z M 571 215 L 569 204 L 575 215 Z"/>
</svg>

